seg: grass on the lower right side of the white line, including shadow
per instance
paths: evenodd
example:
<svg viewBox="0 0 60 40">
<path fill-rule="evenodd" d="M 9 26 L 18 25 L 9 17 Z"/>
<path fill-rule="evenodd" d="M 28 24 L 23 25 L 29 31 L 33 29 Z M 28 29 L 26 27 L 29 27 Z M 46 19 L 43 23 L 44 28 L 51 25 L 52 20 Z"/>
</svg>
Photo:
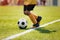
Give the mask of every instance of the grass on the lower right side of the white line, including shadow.
<svg viewBox="0 0 60 40">
<path fill-rule="evenodd" d="M 36 29 L 14 40 L 60 40 L 60 23 L 54 23 L 45 28 Z"/>
</svg>

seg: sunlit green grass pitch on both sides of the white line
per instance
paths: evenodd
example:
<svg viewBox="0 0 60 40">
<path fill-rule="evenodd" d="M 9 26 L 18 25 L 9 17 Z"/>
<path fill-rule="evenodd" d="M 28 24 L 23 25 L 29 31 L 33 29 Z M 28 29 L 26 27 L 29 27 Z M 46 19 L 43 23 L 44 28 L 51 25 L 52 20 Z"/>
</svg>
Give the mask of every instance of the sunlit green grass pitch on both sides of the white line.
<svg viewBox="0 0 60 40">
<path fill-rule="evenodd" d="M 60 19 L 60 7 L 36 6 L 32 11 L 42 16 L 41 25 L 53 20 Z M 0 40 L 26 30 L 18 28 L 17 22 L 20 18 L 26 18 L 28 28 L 32 22 L 23 14 L 23 6 L 0 6 Z M 27 28 L 27 29 L 28 29 Z M 60 40 L 60 22 L 39 28 L 26 35 L 17 37 L 13 40 Z"/>
</svg>

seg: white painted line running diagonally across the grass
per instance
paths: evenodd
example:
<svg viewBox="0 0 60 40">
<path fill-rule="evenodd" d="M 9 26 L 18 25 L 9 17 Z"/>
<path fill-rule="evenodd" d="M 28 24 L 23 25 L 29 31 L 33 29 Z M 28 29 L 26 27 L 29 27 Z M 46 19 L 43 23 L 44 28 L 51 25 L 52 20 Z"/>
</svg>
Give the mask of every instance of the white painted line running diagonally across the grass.
<svg viewBox="0 0 60 40">
<path fill-rule="evenodd" d="M 51 21 L 51 22 L 48 22 L 48 23 L 46 23 L 46 24 L 41 25 L 40 27 L 46 27 L 47 25 L 53 24 L 53 23 L 55 23 L 55 22 L 60 22 L 60 19 L 54 20 L 54 21 Z M 37 27 L 37 28 L 40 28 L 40 27 Z M 16 37 L 18 37 L 18 36 L 20 37 L 20 36 L 22 36 L 22 35 L 24 35 L 24 34 L 26 34 L 26 33 L 29 33 L 29 32 L 31 32 L 31 31 L 37 29 L 37 28 L 26 30 L 26 31 L 24 31 L 24 32 L 21 32 L 21 33 L 18 33 L 18 34 L 9 36 L 9 37 L 4 38 L 4 39 L 2 39 L 2 40 L 11 40 L 11 39 L 14 39 L 14 38 L 16 38 Z"/>
</svg>

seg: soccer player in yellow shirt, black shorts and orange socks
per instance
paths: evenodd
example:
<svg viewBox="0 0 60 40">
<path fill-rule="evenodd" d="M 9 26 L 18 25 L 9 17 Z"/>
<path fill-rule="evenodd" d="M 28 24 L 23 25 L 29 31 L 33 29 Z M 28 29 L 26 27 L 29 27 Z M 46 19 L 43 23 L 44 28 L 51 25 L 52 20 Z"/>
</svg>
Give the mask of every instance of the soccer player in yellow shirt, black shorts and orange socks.
<svg viewBox="0 0 60 40">
<path fill-rule="evenodd" d="M 36 16 L 35 14 L 31 13 L 37 4 L 37 0 L 24 0 L 24 14 L 27 15 L 31 21 L 33 22 L 33 27 L 39 27 L 39 22 L 41 21 L 41 16 Z"/>
</svg>

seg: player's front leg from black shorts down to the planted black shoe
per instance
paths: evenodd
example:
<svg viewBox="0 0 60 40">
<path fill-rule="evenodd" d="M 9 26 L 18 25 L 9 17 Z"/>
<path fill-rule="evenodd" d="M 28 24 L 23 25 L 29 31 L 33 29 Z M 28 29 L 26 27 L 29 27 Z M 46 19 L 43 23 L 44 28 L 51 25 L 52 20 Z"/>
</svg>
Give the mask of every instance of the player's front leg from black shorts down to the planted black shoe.
<svg viewBox="0 0 60 40">
<path fill-rule="evenodd" d="M 31 10 L 33 10 L 33 8 L 34 5 L 24 6 L 24 14 L 29 16 L 29 18 L 33 22 L 33 27 L 38 27 L 39 24 L 37 23 L 35 16 L 30 12 Z"/>
</svg>

